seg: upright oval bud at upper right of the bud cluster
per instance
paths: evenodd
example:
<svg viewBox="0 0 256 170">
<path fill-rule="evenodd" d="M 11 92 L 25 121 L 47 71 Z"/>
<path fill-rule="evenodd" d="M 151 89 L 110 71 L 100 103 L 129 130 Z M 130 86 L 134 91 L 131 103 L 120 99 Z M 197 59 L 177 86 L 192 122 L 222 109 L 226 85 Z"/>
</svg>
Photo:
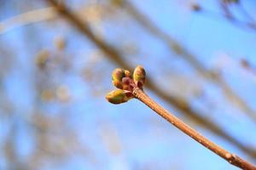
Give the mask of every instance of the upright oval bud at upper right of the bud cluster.
<svg viewBox="0 0 256 170">
<path fill-rule="evenodd" d="M 137 65 L 137 67 L 133 71 L 133 80 L 137 84 L 138 88 L 143 88 L 146 80 L 146 71 L 144 70 L 142 65 Z"/>
</svg>

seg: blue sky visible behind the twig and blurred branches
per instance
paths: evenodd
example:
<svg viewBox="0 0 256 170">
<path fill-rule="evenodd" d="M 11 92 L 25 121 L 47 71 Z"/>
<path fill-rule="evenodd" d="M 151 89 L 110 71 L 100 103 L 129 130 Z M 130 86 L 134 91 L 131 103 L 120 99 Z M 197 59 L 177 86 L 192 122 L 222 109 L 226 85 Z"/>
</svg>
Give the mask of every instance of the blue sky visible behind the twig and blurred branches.
<svg viewBox="0 0 256 170">
<path fill-rule="evenodd" d="M 0 13 L 0 20 L 45 6 L 44 3 L 37 2 L 26 8 L 19 8 L 21 1 L 12 2 L 4 6 L 5 10 Z M 91 4 L 86 1 L 72 2 L 69 5 L 73 6 L 73 9 Z M 219 64 L 224 63 L 221 67 L 224 80 L 229 82 L 237 93 L 245 96 L 248 105 L 255 109 L 253 106 L 255 75 L 241 69 L 239 59 L 246 58 L 256 65 L 254 56 L 256 31 L 238 28 L 221 17 L 216 19 L 204 14 L 195 14 L 189 11 L 188 6 L 186 7 L 188 3 L 186 1 L 155 3 L 148 0 L 147 3 L 144 1 L 133 1 L 133 3 L 162 30 L 178 42 L 182 42 L 207 68 L 216 69 Z M 215 1 L 200 1 L 200 3 L 203 7 L 219 13 Z M 246 8 L 252 8 L 255 4 L 246 2 L 244 5 Z M 159 82 L 160 87 L 166 90 L 170 88 L 171 92 L 187 97 L 195 111 L 201 111 L 213 122 L 218 122 L 226 132 L 244 144 L 252 144 L 256 147 L 253 142 L 256 140 L 256 135 L 253 133 L 255 123 L 234 105 L 230 105 L 216 85 L 198 77 L 186 61 L 170 51 L 160 39 L 151 36 L 138 26 L 124 11 L 116 13 L 119 17 L 104 16 L 99 25 L 103 37 L 118 48 L 123 48 L 125 45 L 131 48 L 135 46 L 135 51 L 131 50 L 131 54 L 130 51 L 122 51 L 131 65 L 144 65 L 148 76 L 154 77 L 154 81 Z M 64 52 L 56 52 L 53 47 L 53 39 L 56 36 L 67 39 L 67 48 Z M 139 101 L 131 100 L 123 105 L 110 105 L 106 102 L 105 94 L 113 89 L 110 75 L 118 65 L 113 65 L 103 54 L 99 54 L 99 50 L 65 20 L 45 21 L 14 28 L 0 35 L 0 44 L 1 48 L 11 54 L 10 58 L 15 60 L 15 64 L 11 65 L 4 77 L 1 77 L 4 96 L 14 104 L 15 109 L 12 111 L 13 116 L 3 116 L 3 119 L 0 119 L 0 146 L 15 124 L 18 133 L 15 144 L 20 160 L 26 159 L 26 156 L 35 149 L 33 145 L 35 134 L 26 124 L 26 118 L 31 116 L 36 107 L 39 107 L 47 116 L 64 117 L 66 124 L 62 125 L 61 133 L 65 132 L 66 126 L 70 127 L 79 137 L 78 144 L 88 150 L 88 155 L 81 156 L 74 151 L 61 163 L 46 159 L 43 167 L 38 169 L 237 169 L 189 139 L 177 128 L 170 126 Z M 72 65 L 70 71 L 56 71 L 57 73 L 54 72 L 52 76 L 47 77 L 57 86 L 63 84 L 67 86 L 72 98 L 68 103 L 62 104 L 58 101 L 38 103 L 38 92 L 34 85 L 38 74 L 35 58 L 38 51 L 45 48 L 70 59 L 68 60 Z M 94 53 L 98 54 L 96 60 Z M 2 56 L 9 58 L 7 54 Z M 90 68 L 93 68 L 94 77 L 84 81 L 81 73 L 84 69 L 90 70 Z M 181 88 L 172 85 L 180 81 L 176 79 L 177 75 L 182 77 L 181 81 L 184 81 L 184 78 L 189 84 L 180 84 Z M 202 87 L 206 98 L 199 99 L 192 95 L 192 92 L 192 94 L 183 94 L 183 91 L 177 91 L 182 88 L 184 91 L 189 91 L 186 90 L 190 89 L 189 85 L 195 85 L 195 88 Z M 197 126 L 196 122 L 191 122 L 154 93 L 147 89 L 146 92 L 212 141 L 249 161 L 256 162 L 236 146 Z M 108 134 L 107 137 L 102 135 L 104 133 Z M 112 142 L 118 145 L 116 152 L 111 148 Z M 3 160 L 0 161 L 0 167 L 3 169 L 7 167 L 1 153 L 0 160 Z"/>
</svg>

